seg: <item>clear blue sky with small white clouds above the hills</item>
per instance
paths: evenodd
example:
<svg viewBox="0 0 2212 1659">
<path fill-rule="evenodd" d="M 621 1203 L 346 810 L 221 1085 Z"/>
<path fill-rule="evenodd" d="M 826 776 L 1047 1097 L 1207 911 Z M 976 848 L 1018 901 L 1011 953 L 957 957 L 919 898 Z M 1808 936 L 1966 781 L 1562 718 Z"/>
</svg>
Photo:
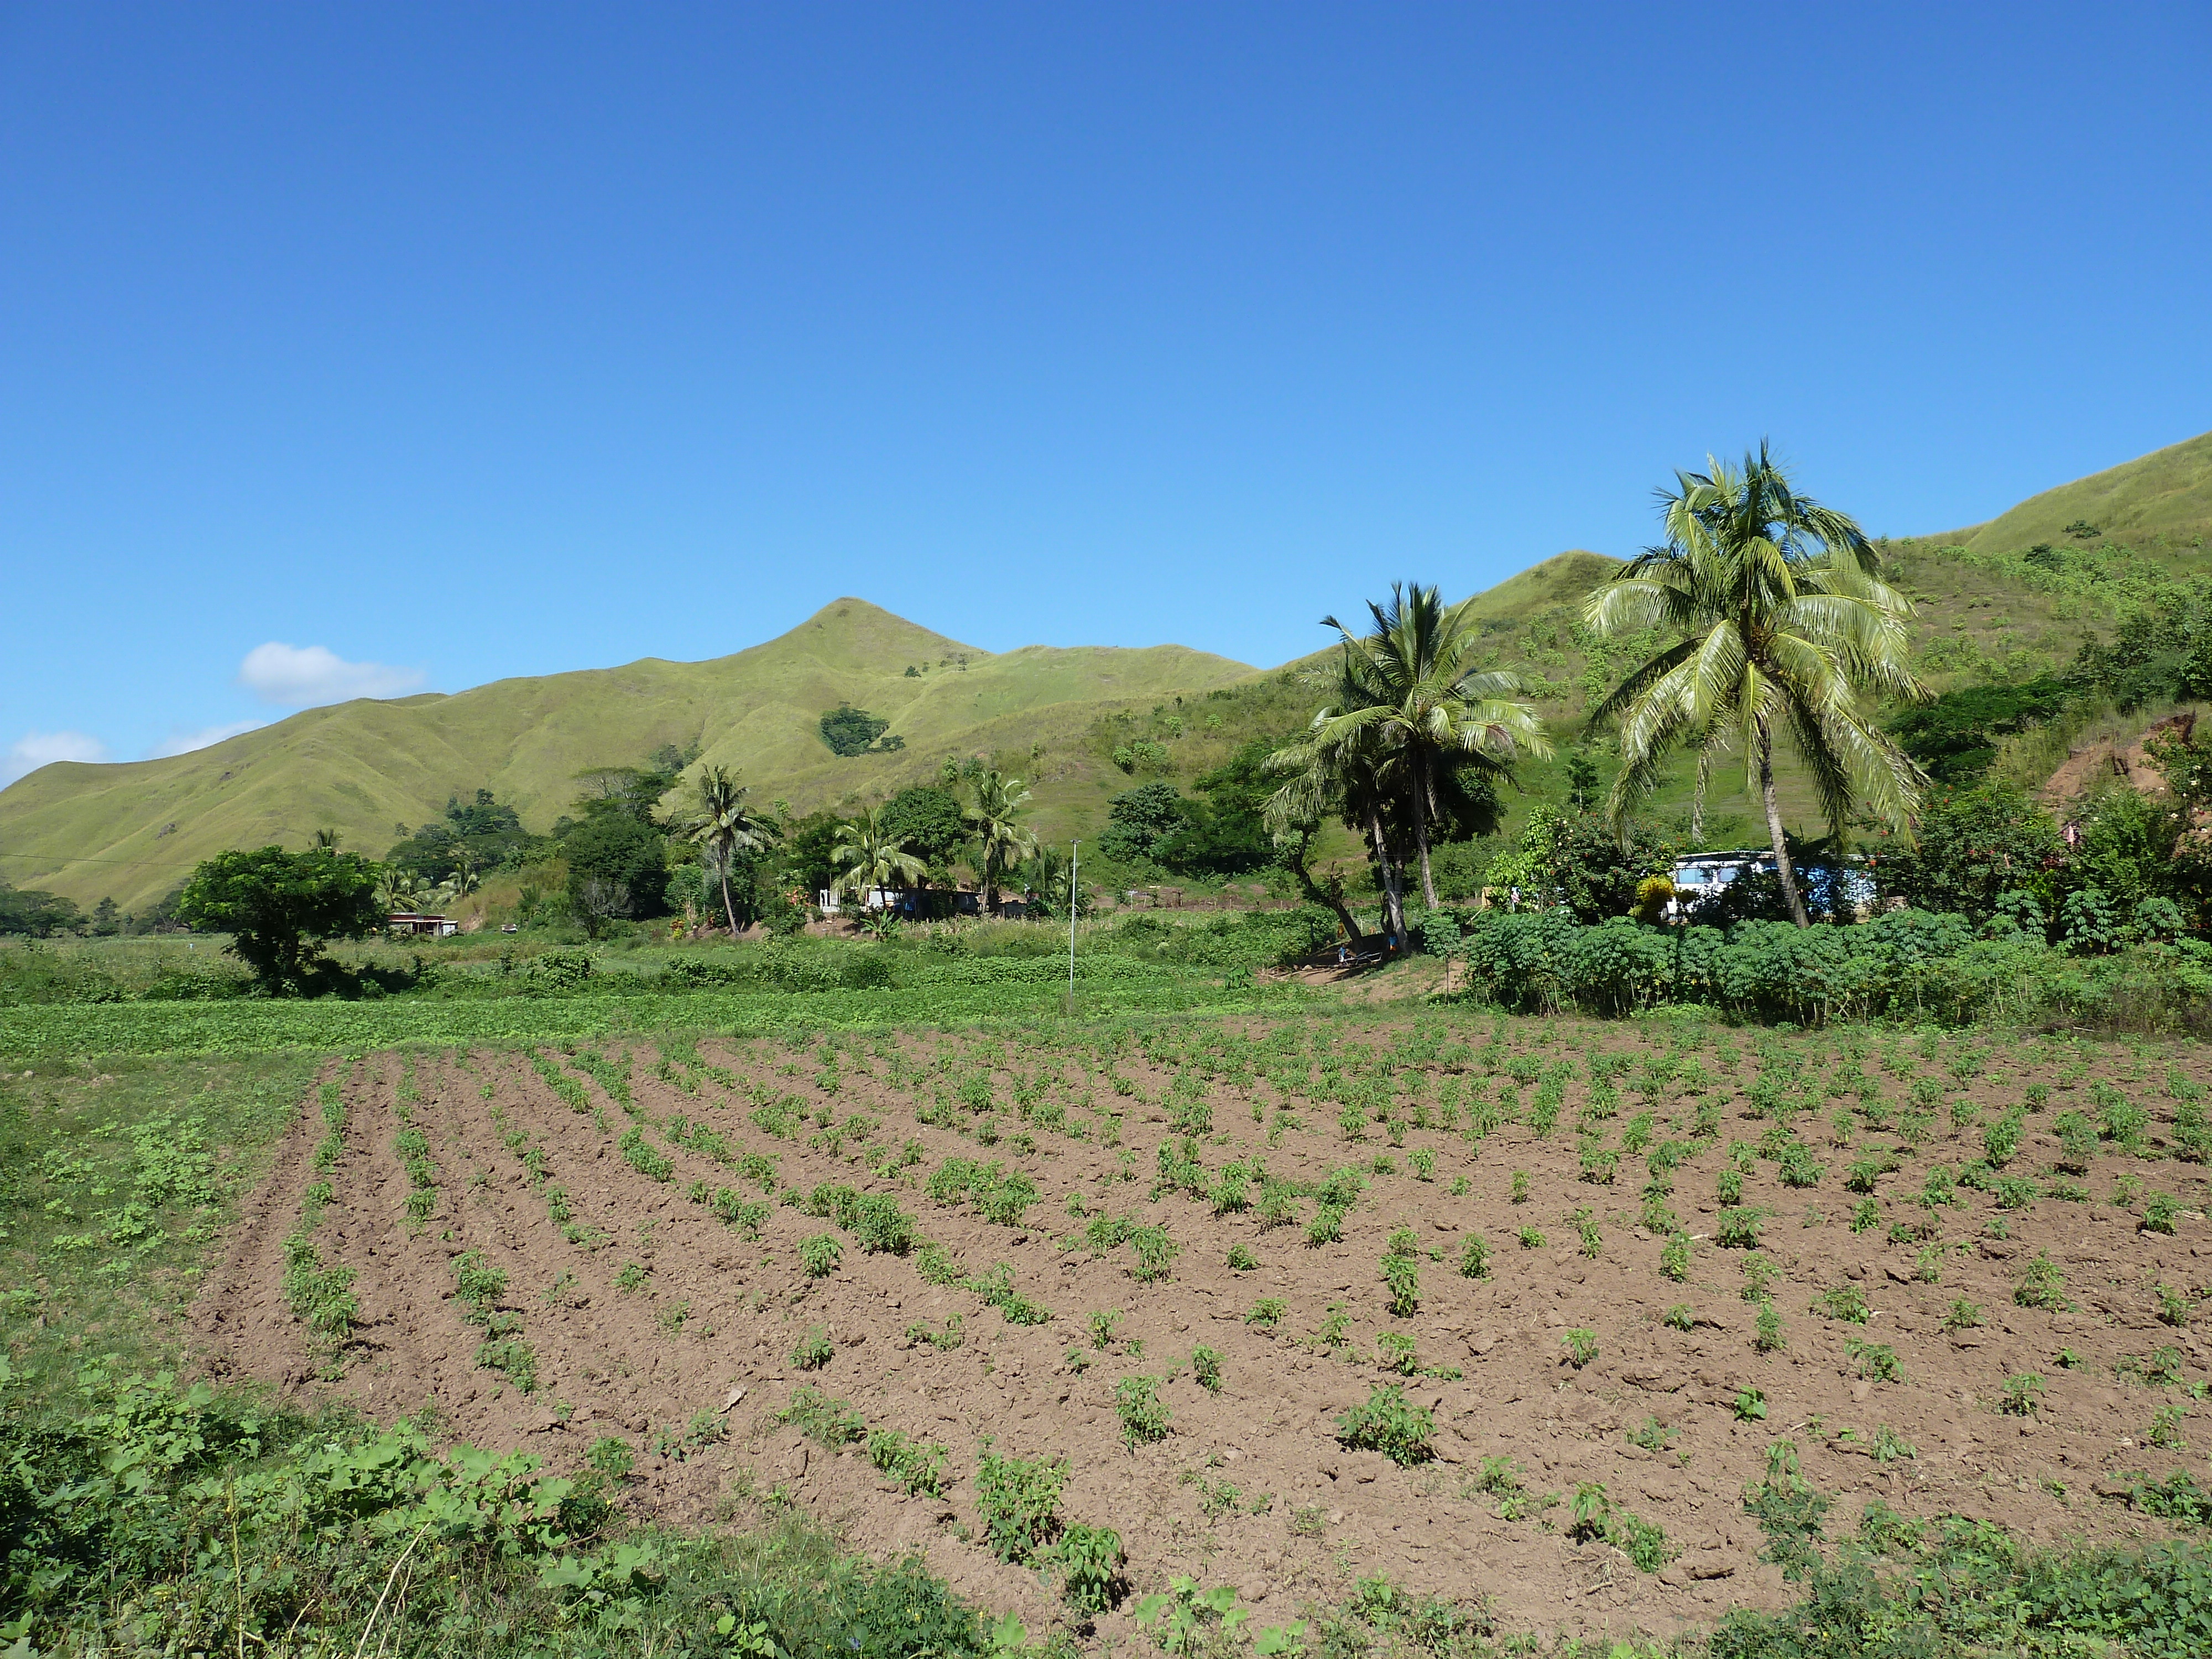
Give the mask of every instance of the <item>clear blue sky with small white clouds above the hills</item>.
<svg viewBox="0 0 2212 1659">
<path fill-rule="evenodd" d="M 1274 664 L 2212 427 L 2212 9 L 0 9 L 0 781 L 858 593 Z"/>
</svg>

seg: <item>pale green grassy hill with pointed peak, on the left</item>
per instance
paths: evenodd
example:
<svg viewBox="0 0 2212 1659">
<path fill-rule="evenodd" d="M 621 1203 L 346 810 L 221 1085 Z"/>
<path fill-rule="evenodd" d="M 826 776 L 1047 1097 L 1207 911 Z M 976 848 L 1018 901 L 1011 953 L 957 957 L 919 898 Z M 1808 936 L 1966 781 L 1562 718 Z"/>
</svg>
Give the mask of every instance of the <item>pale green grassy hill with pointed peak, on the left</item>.
<svg viewBox="0 0 2212 1659">
<path fill-rule="evenodd" d="M 909 672 L 911 670 L 911 672 Z M 1225 657 L 1029 646 L 991 655 L 863 599 L 836 599 L 779 639 L 703 664 L 644 659 L 451 697 L 316 708 L 164 761 L 49 765 L 0 792 L 0 872 L 80 902 L 133 907 L 223 847 L 299 847 L 334 825 L 383 854 L 449 794 L 489 785 L 546 830 L 575 772 L 661 743 L 741 765 L 794 807 L 852 805 L 936 772 L 945 754 L 1037 759 L 1079 739 L 1102 703 L 1152 701 L 1250 677 Z M 849 701 L 907 748 L 843 759 L 821 739 Z"/>
</svg>

